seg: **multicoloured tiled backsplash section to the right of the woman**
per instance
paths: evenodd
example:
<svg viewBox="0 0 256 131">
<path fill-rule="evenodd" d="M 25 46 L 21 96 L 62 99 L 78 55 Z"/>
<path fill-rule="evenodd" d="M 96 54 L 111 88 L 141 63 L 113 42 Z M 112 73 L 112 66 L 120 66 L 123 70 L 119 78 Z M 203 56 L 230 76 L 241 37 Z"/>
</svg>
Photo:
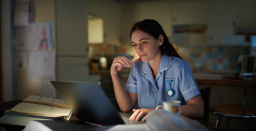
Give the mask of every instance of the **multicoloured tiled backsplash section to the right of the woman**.
<svg viewBox="0 0 256 131">
<path fill-rule="evenodd" d="M 243 49 L 240 46 L 196 46 L 178 47 L 180 56 L 192 69 L 235 71 L 237 58 Z"/>
</svg>

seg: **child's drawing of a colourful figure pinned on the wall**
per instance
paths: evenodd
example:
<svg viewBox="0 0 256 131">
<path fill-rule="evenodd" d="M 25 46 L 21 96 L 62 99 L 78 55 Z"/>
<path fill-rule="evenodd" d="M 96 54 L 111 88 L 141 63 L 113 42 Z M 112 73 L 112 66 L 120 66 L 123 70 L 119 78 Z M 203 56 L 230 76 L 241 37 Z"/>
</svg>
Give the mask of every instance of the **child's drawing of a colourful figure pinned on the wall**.
<svg viewBox="0 0 256 131">
<path fill-rule="evenodd" d="M 54 48 L 54 23 L 40 22 L 18 27 L 17 50 L 49 50 Z"/>
</svg>

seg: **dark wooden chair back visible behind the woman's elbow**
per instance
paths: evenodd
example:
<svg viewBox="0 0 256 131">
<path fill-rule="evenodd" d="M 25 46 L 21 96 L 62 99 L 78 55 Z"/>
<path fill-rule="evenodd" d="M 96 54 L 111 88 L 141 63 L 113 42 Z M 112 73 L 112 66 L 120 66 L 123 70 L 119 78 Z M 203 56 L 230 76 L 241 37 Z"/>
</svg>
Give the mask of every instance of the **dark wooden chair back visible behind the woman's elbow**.
<svg viewBox="0 0 256 131">
<path fill-rule="evenodd" d="M 201 92 L 202 100 L 204 101 L 204 113 L 203 120 L 209 122 L 209 104 L 210 104 L 210 92 L 211 88 L 206 87 L 205 89 L 199 89 Z"/>
</svg>

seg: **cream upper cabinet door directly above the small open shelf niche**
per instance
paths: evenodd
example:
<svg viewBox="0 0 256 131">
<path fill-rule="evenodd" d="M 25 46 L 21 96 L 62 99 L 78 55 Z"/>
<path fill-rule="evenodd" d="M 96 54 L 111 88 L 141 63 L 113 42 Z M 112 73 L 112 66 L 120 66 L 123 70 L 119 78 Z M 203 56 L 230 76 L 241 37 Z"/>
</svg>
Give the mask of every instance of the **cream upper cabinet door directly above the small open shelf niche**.
<svg viewBox="0 0 256 131">
<path fill-rule="evenodd" d="M 207 24 L 207 1 L 173 3 L 172 24 Z"/>
</svg>

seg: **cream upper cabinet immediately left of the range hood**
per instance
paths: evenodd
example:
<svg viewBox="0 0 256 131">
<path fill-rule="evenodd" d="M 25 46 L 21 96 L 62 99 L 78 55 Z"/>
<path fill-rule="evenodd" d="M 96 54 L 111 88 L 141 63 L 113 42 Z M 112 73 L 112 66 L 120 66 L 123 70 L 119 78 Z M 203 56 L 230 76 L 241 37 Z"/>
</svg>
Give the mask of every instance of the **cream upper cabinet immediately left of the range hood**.
<svg viewBox="0 0 256 131">
<path fill-rule="evenodd" d="M 209 1 L 208 44 L 248 45 L 243 35 L 233 35 L 235 1 Z"/>
</svg>

